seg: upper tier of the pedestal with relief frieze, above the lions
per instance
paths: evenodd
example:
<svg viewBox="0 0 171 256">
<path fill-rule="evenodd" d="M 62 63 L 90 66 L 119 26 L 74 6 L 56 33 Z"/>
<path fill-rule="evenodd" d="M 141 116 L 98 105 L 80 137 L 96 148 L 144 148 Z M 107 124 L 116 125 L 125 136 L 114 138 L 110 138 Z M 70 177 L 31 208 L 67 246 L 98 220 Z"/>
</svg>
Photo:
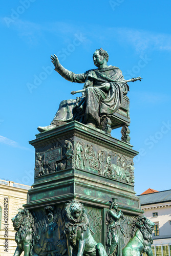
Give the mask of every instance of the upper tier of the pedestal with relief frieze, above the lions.
<svg viewBox="0 0 171 256">
<path fill-rule="evenodd" d="M 109 205 L 111 198 L 116 195 L 121 204 L 129 209 L 130 206 L 134 206 L 134 211 L 140 210 L 133 183 L 127 180 L 129 176 L 125 176 L 124 173 L 125 170 L 132 172 L 130 163 L 137 152 L 130 144 L 125 144 L 88 126 L 84 129 L 85 126 L 73 121 L 38 134 L 37 139 L 30 142 L 36 148 L 35 157 L 37 158 L 39 153 L 42 161 L 44 161 L 44 153 L 54 152 L 52 148 L 55 146 L 58 149 L 60 146 L 62 160 L 57 159 L 55 163 L 48 165 L 45 163 L 42 166 L 46 166 L 45 170 L 49 166 L 49 173 L 45 175 L 39 175 L 35 168 L 35 183 L 33 189 L 29 191 L 28 205 L 33 205 L 36 201 L 41 204 L 42 199 L 48 202 L 49 199 L 55 201 L 57 198 L 72 195 L 79 195 L 85 201 L 102 200 L 103 204 Z M 87 144 L 92 147 L 91 154 L 89 154 L 90 149 L 86 151 Z M 110 152 L 113 158 L 109 161 Z M 123 162 L 120 162 L 122 159 Z M 117 169 L 115 170 L 117 164 L 123 165 L 123 167 L 118 166 L 119 173 Z M 115 175 L 111 176 L 110 169 L 113 169 Z M 127 194 L 128 191 L 130 195 Z"/>
</svg>

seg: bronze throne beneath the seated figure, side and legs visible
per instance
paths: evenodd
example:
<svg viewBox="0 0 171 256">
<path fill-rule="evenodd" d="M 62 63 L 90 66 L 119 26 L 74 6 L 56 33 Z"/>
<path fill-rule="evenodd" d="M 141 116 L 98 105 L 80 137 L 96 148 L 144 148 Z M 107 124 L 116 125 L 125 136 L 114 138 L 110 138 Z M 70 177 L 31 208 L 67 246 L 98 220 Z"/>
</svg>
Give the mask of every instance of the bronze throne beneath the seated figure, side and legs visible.
<svg viewBox="0 0 171 256">
<path fill-rule="evenodd" d="M 122 127 L 121 140 L 130 143 L 130 122 L 130 99 L 124 95 L 120 108 L 114 114 L 101 118 L 101 130 L 110 135 L 113 129 Z"/>
</svg>

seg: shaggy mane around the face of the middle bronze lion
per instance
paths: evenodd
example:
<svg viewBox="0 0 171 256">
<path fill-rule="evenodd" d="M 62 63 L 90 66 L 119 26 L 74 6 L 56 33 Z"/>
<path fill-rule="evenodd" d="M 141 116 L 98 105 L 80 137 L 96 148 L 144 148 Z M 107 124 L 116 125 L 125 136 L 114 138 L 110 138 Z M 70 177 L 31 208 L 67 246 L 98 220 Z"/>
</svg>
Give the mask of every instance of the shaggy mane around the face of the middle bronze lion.
<svg viewBox="0 0 171 256">
<path fill-rule="evenodd" d="M 80 217 L 78 219 L 75 219 L 71 215 L 70 206 L 72 204 L 78 204 L 80 207 Z M 83 207 L 83 204 L 78 202 L 77 200 L 72 200 L 69 203 L 66 203 L 66 222 L 65 222 L 65 233 L 69 234 L 69 239 L 73 243 L 73 245 L 76 244 L 76 234 L 77 230 L 81 228 L 82 232 L 86 231 L 89 227 L 89 219 L 86 215 L 86 210 Z"/>
</svg>

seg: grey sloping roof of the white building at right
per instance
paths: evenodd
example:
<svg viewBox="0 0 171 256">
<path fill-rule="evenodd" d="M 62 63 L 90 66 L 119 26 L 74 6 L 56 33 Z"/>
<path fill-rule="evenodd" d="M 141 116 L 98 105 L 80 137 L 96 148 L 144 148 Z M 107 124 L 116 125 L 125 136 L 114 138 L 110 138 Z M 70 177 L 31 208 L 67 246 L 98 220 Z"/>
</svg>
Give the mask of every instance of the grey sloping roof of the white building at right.
<svg viewBox="0 0 171 256">
<path fill-rule="evenodd" d="M 141 205 L 168 202 L 168 201 L 171 201 L 171 189 L 159 191 L 155 193 L 139 195 L 139 197 L 140 197 Z"/>
</svg>

